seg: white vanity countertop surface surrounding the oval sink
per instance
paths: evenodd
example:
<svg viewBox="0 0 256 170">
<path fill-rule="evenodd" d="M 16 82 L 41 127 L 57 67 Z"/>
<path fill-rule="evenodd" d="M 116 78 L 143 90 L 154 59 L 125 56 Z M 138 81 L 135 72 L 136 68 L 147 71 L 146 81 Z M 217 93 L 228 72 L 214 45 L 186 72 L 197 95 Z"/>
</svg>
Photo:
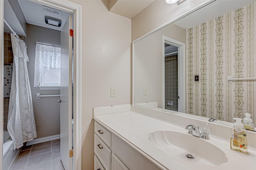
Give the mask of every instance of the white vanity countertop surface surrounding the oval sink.
<svg viewBox="0 0 256 170">
<path fill-rule="evenodd" d="M 225 152 L 228 162 L 222 163 L 220 166 L 191 164 L 191 160 L 185 156 L 184 159 L 174 158 L 157 149 L 148 139 L 149 133 L 158 130 L 187 133 L 185 127 L 180 128 L 133 111 L 94 115 L 94 119 L 118 133 L 169 170 L 256 170 L 256 152 L 250 150 L 250 146 L 248 146 L 248 153 L 243 154 L 231 150 L 229 142 L 214 139 L 210 135 L 211 139 L 206 141 Z M 209 154 L 213 152 L 214 150 L 209 151 Z"/>
</svg>

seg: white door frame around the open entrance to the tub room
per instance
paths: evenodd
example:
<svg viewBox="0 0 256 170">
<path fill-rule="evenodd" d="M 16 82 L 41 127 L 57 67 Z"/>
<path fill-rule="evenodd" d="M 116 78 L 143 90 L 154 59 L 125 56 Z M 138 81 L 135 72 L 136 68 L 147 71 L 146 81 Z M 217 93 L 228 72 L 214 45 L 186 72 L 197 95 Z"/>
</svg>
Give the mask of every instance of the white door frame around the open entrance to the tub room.
<svg viewBox="0 0 256 170">
<path fill-rule="evenodd" d="M 74 169 L 81 169 L 81 82 L 80 82 L 80 75 L 81 75 L 81 6 L 78 4 L 74 4 L 72 2 L 55 2 L 55 0 L 36 0 L 35 2 L 39 4 L 44 4 L 50 6 L 51 8 L 56 8 L 59 10 L 63 10 L 65 12 L 74 14 Z M 4 2 L 0 2 L 0 31 L 2 34 L 0 35 L 0 52 L 3 53 L 3 11 L 4 11 Z M 3 57 L 3 56 L 1 56 Z M 2 59 L 3 61 L 3 59 Z M 3 66 L 2 61 L 0 61 L 1 67 Z M 3 69 L 3 68 L 1 68 Z M 0 78 L 3 78 L 2 75 Z M 79 79 L 79 80 L 78 80 Z M 3 84 L 0 84 L 0 88 L 2 88 Z M 0 102 L 1 106 L 3 106 L 3 94 L 0 93 Z M 1 116 L 3 117 L 3 110 L 0 112 Z M 0 121 L 3 124 L 1 119 Z M 71 124 L 71 122 L 70 122 Z M 71 127 L 70 127 L 71 128 Z M 2 139 L 3 127 L 0 127 L 0 138 Z M 0 147 L 0 151 L 3 148 Z M 2 154 L 0 155 L 0 164 L 2 165 Z"/>
</svg>

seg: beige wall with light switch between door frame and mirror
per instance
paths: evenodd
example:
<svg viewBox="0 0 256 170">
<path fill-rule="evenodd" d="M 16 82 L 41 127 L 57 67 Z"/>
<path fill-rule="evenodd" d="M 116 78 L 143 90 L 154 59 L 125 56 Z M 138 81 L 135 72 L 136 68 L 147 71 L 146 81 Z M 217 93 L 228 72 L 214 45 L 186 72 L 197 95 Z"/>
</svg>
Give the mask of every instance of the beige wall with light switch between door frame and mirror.
<svg viewBox="0 0 256 170">
<path fill-rule="evenodd" d="M 70 1 L 82 5 L 82 169 L 92 170 L 93 108 L 131 101 L 131 20 L 108 12 L 100 0 Z"/>
</svg>

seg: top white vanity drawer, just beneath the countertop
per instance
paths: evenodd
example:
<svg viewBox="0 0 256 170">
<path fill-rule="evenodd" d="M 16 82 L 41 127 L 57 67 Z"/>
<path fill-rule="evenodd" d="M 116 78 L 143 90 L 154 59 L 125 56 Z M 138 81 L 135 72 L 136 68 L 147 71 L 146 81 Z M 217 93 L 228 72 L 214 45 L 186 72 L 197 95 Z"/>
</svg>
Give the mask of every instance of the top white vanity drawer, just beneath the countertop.
<svg viewBox="0 0 256 170">
<path fill-rule="evenodd" d="M 111 133 L 109 131 L 107 131 L 97 122 L 94 123 L 94 131 L 100 137 L 100 139 L 102 139 L 102 141 L 106 143 L 106 145 L 111 147 Z"/>
</svg>

